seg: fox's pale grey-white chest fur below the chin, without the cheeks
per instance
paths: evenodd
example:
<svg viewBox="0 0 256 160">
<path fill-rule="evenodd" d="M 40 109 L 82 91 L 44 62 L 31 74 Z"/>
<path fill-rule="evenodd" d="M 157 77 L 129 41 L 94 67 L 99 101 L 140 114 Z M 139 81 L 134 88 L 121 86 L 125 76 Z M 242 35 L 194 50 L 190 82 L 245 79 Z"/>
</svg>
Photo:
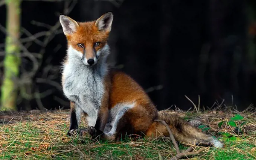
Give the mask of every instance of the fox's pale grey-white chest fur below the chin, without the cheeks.
<svg viewBox="0 0 256 160">
<path fill-rule="evenodd" d="M 63 66 L 63 92 L 76 107 L 88 114 L 90 125 L 96 121 L 105 91 L 104 73 L 100 67 L 100 64 L 86 66 L 77 58 L 69 59 L 69 63 Z"/>
</svg>

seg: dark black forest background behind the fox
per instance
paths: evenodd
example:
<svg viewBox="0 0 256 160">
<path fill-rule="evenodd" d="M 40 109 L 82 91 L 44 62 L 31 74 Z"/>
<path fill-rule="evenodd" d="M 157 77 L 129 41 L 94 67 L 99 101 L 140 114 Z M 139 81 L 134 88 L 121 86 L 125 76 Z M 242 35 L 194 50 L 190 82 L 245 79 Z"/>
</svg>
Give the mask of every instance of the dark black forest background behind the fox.
<svg viewBox="0 0 256 160">
<path fill-rule="evenodd" d="M 222 103 L 243 110 L 256 103 L 253 27 L 249 30 L 255 21 L 255 0 L 23 1 L 21 40 L 28 32 L 50 34 L 38 37 L 40 42 L 23 42 L 29 52 L 42 57 L 37 57 L 35 74 L 21 83 L 34 98 L 20 94 L 19 110 L 69 108 L 59 72 L 66 37 L 61 26 L 51 27 L 59 23 L 65 8 L 76 21 L 113 12 L 109 60 L 142 85 L 159 110 L 193 107 L 184 95 L 196 105 L 200 95 L 200 106 L 206 109 Z M 5 23 L 6 7 L 1 6 L 0 24 Z M 0 51 L 4 42 L 5 33 L 0 32 Z M 21 75 L 33 68 L 29 58 L 22 59 Z M 35 98 L 38 92 L 42 94 Z"/>
</svg>

